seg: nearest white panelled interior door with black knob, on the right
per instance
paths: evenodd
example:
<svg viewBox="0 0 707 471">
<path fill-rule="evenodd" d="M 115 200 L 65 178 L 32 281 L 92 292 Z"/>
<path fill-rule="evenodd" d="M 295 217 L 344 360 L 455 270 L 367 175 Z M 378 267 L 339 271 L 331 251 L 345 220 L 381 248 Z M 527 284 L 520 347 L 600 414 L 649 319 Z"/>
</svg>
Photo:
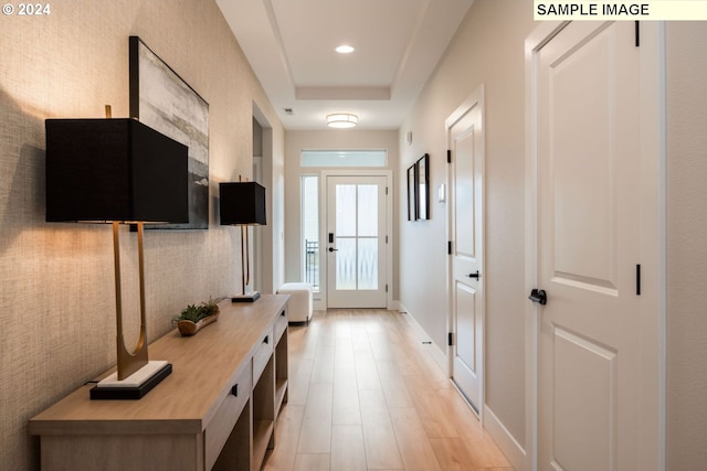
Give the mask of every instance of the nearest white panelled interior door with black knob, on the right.
<svg viewBox="0 0 707 471">
<path fill-rule="evenodd" d="M 643 45 L 642 45 L 643 47 Z M 641 63 L 633 22 L 574 22 L 537 54 L 538 468 L 655 469 L 657 306 L 642 214 Z M 657 90 L 655 90 L 657 95 Z M 646 193 L 646 189 L 650 189 Z M 651 191 L 652 190 L 652 191 Z M 657 269 L 653 266 L 652 269 Z M 643 290 L 655 290 L 655 277 Z M 535 293 L 535 300 L 542 298 Z M 647 387 L 646 387 L 647 386 Z M 647 451 L 651 450 L 651 451 Z"/>
</svg>

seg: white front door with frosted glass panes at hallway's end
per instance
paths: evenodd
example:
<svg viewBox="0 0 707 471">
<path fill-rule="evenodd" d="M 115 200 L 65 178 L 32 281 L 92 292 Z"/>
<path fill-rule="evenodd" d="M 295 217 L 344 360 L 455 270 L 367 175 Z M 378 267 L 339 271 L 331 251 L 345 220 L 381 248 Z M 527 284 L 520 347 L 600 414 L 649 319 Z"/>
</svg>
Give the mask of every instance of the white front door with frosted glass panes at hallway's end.
<svg viewBox="0 0 707 471">
<path fill-rule="evenodd" d="M 328 308 L 386 308 L 386 176 L 327 178 Z"/>
</svg>

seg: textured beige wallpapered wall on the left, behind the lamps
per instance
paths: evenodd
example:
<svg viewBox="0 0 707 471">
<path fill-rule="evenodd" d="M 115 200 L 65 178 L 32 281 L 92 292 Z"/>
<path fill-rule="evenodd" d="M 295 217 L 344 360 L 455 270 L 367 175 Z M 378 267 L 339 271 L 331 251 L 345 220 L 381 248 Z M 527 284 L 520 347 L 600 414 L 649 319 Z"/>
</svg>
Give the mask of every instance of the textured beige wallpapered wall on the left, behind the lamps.
<svg viewBox="0 0 707 471">
<path fill-rule="evenodd" d="M 51 8 L 43 18 L 0 19 L 2 470 L 38 469 L 28 419 L 115 363 L 110 229 L 44 222 L 44 119 L 103 117 L 104 104 L 128 116 L 129 35 L 210 104 L 210 228 L 146 234 L 150 339 L 169 331 L 187 303 L 238 288 L 240 240 L 218 225 L 218 182 L 251 174 L 254 104 L 272 127 L 268 191 L 282 191 L 284 178 L 284 131 L 214 1 L 63 0 Z M 283 201 L 273 196 L 275 225 Z M 135 235 L 124 228 L 120 236 L 124 303 L 135 318 Z"/>
</svg>

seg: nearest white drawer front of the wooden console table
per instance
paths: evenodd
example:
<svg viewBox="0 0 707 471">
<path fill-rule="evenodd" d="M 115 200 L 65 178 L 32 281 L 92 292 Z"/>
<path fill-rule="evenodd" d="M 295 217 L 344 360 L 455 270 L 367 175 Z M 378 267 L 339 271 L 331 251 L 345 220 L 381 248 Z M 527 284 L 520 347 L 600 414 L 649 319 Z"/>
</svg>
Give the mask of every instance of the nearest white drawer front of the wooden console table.
<svg viewBox="0 0 707 471">
<path fill-rule="evenodd" d="M 204 430 L 205 469 L 210 470 L 219 458 L 231 430 L 247 403 L 252 389 L 252 370 L 247 363 L 234 375 L 229 385 L 229 394 L 217 409 Z M 245 414 L 249 414 L 247 411 Z"/>
</svg>

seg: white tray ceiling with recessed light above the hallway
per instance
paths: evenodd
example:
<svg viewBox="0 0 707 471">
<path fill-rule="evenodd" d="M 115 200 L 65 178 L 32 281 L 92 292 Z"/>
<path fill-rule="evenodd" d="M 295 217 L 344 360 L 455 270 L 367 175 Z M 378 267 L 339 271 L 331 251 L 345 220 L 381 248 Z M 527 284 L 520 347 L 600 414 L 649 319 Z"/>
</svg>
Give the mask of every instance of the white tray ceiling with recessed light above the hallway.
<svg viewBox="0 0 707 471">
<path fill-rule="evenodd" d="M 473 1 L 217 3 L 283 126 L 294 130 L 326 129 L 333 113 L 358 115 L 358 129 L 399 129 Z M 345 43 L 356 51 L 334 51 Z"/>
</svg>

